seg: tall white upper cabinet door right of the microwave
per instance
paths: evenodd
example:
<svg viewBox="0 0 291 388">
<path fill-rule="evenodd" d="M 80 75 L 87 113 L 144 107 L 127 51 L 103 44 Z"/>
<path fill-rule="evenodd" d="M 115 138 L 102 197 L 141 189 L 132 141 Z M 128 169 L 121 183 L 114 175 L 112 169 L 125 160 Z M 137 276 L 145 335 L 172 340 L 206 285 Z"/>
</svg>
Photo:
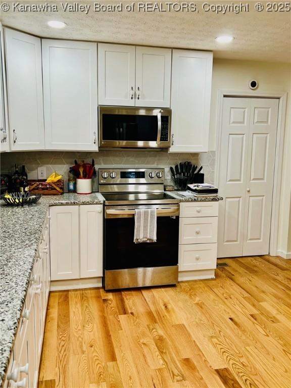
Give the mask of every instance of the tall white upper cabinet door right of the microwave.
<svg viewBox="0 0 291 388">
<path fill-rule="evenodd" d="M 173 50 L 170 152 L 208 151 L 212 57 L 212 53 Z"/>
</svg>

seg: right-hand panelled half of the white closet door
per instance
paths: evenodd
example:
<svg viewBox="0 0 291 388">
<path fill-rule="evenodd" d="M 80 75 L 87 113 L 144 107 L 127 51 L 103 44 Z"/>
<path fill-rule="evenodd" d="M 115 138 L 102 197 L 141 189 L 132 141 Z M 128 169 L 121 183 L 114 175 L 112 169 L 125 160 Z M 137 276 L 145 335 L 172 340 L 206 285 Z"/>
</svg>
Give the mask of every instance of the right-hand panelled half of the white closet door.
<svg viewBox="0 0 291 388">
<path fill-rule="evenodd" d="M 268 255 L 279 100 L 252 99 L 243 255 Z"/>
</svg>

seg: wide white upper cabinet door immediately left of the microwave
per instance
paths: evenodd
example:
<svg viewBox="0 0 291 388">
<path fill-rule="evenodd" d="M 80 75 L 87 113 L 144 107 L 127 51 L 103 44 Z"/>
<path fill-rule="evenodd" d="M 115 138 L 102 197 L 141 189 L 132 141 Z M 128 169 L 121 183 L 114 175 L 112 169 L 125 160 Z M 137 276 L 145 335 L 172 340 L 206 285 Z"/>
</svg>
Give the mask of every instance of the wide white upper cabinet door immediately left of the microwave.
<svg viewBox="0 0 291 388">
<path fill-rule="evenodd" d="M 42 39 L 46 150 L 98 151 L 97 44 Z"/>
</svg>

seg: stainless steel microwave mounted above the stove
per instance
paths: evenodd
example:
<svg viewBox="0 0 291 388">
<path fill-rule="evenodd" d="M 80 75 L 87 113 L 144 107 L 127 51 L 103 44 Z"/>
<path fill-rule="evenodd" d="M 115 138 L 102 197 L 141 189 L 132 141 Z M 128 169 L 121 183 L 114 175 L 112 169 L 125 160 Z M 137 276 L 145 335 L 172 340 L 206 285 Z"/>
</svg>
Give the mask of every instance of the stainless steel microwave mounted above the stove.
<svg viewBox="0 0 291 388">
<path fill-rule="evenodd" d="M 171 109 L 99 107 L 99 147 L 167 148 Z"/>
</svg>

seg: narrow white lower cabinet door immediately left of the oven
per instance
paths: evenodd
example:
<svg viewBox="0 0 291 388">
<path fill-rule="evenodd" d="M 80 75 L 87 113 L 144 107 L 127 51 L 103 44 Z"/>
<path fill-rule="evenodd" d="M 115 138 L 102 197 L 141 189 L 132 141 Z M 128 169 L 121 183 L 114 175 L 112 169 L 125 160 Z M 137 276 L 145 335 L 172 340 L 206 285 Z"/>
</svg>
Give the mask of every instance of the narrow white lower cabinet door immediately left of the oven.
<svg viewBox="0 0 291 388">
<path fill-rule="evenodd" d="M 80 206 L 80 275 L 103 276 L 103 205 Z"/>
</svg>

